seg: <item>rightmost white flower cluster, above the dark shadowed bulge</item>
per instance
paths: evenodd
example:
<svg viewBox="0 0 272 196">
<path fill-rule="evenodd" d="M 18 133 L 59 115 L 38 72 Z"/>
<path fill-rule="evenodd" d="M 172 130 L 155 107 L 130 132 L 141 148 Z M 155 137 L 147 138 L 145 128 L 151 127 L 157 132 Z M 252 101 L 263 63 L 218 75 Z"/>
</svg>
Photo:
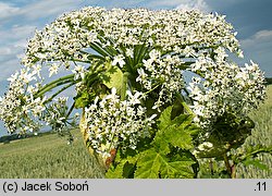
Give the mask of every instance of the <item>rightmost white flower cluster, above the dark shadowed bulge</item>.
<svg viewBox="0 0 272 196">
<path fill-rule="evenodd" d="M 223 113 L 247 114 L 265 98 L 264 76 L 251 61 L 245 68 L 224 61 L 226 53 L 220 48 L 214 59 L 199 58 L 190 70 L 194 76 L 188 90 L 193 99 L 195 122 L 209 127 Z"/>
</svg>

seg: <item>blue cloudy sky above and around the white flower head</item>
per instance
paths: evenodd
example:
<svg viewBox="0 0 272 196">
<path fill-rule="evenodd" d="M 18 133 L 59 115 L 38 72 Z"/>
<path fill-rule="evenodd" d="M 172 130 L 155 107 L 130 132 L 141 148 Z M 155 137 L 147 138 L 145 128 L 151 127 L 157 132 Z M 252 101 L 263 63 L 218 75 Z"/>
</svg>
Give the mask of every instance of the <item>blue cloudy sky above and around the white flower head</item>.
<svg viewBox="0 0 272 196">
<path fill-rule="evenodd" d="M 104 8 L 200 9 L 226 15 L 238 32 L 245 59 L 259 63 L 272 77 L 271 0 L 0 0 L 0 96 L 7 78 L 20 69 L 20 57 L 35 29 L 41 29 L 63 12 L 85 5 Z M 2 123 L 0 122 L 0 130 Z M 1 131 L 0 131 L 1 135 Z"/>
</svg>

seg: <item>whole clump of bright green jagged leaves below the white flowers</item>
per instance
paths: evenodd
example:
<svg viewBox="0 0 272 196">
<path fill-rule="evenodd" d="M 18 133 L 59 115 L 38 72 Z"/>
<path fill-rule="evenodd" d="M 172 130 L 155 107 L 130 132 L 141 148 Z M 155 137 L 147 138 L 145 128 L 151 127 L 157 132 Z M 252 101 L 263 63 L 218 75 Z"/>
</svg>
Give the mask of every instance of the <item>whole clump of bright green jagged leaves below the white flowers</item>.
<svg viewBox="0 0 272 196">
<path fill-rule="evenodd" d="M 196 176 L 197 160 L 189 150 L 194 147 L 190 134 L 197 132 L 197 127 L 191 124 L 189 114 L 181 114 L 171 120 L 171 112 L 172 107 L 162 112 L 153 139 L 150 138 L 146 145 L 143 143 L 136 155 L 128 151 L 121 157 L 118 154 L 107 177 Z"/>
</svg>

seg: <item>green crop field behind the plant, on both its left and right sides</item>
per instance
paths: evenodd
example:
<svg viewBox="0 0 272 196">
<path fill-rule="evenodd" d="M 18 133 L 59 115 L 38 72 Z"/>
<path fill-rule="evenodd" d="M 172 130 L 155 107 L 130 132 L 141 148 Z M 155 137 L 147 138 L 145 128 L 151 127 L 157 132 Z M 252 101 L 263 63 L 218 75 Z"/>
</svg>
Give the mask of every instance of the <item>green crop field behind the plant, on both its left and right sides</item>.
<svg viewBox="0 0 272 196">
<path fill-rule="evenodd" d="M 256 122 L 252 135 L 243 148 L 250 145 L 272 145 L 272 85 L 268 87 L 268 99 L 250 114 Z M 89 179 L 102 177 L 95 159 L 88 155 L 77 130 L 75 142 L 67 145 L 55 134 L 13 140 L 0 144 L 1 179 Z M 272 156 L 260 155 L 260 159 L 272 169 Z M 256 167 L 238 166 L 237 177 L 272 179 L 272 172 Z"/>
</svg>

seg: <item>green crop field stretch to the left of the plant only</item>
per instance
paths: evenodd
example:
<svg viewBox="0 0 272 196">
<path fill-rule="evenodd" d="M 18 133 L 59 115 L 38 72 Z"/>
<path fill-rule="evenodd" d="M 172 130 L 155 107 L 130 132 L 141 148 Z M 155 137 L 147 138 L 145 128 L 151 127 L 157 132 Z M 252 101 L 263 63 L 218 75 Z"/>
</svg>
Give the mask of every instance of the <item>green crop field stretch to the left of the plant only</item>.
<svg viewBox="0 0 272 196">
<path fill-rule="evenodd" d="M 57 134 L 1 144 L 0 179 L 102 177 L 81 135 L 75 135 L 73 145 Z"/>
</svg>

